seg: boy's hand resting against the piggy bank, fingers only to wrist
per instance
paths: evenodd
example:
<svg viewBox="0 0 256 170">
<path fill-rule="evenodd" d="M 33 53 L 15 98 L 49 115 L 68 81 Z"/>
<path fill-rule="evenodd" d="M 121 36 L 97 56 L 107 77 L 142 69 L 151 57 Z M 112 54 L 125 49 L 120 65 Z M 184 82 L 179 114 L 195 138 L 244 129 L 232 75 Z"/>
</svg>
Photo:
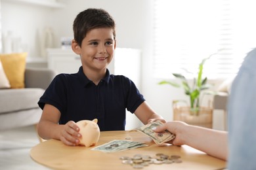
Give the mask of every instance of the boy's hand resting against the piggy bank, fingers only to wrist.
<svg viewBox="0 0 256 170">
<path fill-rule="evenodd" d="M 77 146 L 80 142 L 79 138 L 81 138 L 79 130 L 74 121 L 69 121 L 60 130 L 60 141 L 69 146 Z"/>
</svg>

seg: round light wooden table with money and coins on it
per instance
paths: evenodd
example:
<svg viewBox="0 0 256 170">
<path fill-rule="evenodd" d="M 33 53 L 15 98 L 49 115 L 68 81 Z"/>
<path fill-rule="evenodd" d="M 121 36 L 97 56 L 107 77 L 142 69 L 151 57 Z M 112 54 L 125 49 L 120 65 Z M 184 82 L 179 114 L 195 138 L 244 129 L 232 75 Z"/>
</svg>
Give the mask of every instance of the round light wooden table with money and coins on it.
<svg viewBox="0 0 256 170">
<path fill-rule="evenodd" d="M 158 153 L 181 156 L 182 163 L 150 164 L 143 169 L 222 169 L 226 161 L 219 160 L 190 146 L 173 146 L 163 144 L 159 146 L 146 135 L 138 131 L 102 131 L 96 146 L 113 140 L 139 141 L 149 146 L 124 150 L 120 152 L 104 153 L 91 150 L 85 146 L 66 146 L 61 141 L 51 139 L 34 146 L 30 152 L 33 160 L 53 169 L 134 169 L 119 159 L 121 156 L 133 157 L 135 154 L 156 156 Z"/>
</svg>

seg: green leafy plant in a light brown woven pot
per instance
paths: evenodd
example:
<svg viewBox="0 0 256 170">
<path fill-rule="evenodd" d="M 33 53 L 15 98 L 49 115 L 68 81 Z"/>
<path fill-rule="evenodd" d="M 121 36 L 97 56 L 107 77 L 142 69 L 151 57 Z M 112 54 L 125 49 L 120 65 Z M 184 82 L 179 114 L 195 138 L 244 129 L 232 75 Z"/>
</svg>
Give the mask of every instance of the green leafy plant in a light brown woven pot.
<svg viewBox="0 0 256 170">
<path fill-rule="evenodd" d="M 198 67 L 197 77 L 193 78 L 193 82 L 190 85 L 185 76 L 179 73 L 173 73 L 173 76 L 181 80 L 181 83 L 162 80 L 158 84 L 169 84 L 175 88 L 183 88 L 184 93 L 189 96 L 190 104 L 186 107 L 178 106 L 179 100 L 173 101 L 173 120 L 181 120 L 188 124 L 194 124 L 203 127 L 212 127 L 212 112 L 213 109 L 210 107 L 202 107 L 200 105 L 200 97 L 202 96 L 202 91 L 207 90 L 212 87 L 212 84 L 207 83 L 207 77 L 202 78 L 203 75 L 203 65 L 205 61 L 214 54 L 211 54 L 208 58 L 202 59 Z M 213 94 L 213 91 L 207 91 L 207 93 Z"/>
</svg>

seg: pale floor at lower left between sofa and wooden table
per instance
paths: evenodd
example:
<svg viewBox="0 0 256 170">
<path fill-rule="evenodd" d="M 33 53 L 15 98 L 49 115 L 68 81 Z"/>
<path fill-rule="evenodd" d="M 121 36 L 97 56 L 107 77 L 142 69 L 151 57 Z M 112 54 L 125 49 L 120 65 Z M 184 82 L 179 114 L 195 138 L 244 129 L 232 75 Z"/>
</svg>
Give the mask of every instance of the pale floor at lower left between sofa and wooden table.
<svg viewBox="0 0 256 170">
<path fill-rule="evenodd" d="M 39 143 L 34 126 L 0 131 L 0 169 L 49 169 L 30 158 L 30 150 Z"/>
</svg>

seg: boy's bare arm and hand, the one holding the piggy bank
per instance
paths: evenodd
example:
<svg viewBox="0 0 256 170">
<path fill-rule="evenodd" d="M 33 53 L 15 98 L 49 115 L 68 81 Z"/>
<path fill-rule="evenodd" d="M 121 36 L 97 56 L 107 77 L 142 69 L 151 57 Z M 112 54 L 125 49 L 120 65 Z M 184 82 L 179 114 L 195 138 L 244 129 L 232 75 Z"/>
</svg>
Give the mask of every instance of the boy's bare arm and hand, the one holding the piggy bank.
<svg viewBox="0 0 256 170">
<path fill-rule="evenodd" d="M 64 144 L 75 146 L 79 144 L 79 127 L 70 121 L 65 125 L 59 125 L 60 111 L 53 105 L 45 104 L 39 124 L 38 134 L 43 139 L 57 139 Z"/>
</svg>

